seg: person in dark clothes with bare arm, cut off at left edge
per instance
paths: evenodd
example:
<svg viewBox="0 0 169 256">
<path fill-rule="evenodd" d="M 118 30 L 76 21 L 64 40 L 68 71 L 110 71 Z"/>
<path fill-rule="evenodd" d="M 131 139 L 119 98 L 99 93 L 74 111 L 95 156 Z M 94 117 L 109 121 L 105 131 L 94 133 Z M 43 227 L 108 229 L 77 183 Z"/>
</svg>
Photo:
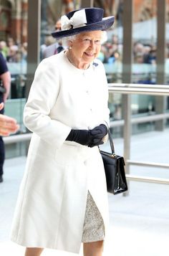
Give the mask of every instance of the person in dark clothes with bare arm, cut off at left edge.
<svg viewBox="0 0 169 256">
<path fill-rule="evenodd" d="M 11 75 L 9 73 L 8 67 L 6 65 L 6 60 L 4 60 L 3 55 L 0 52 L 0 103 L 5 103 L 9 96 L 9 91 L 11 87 Z M 0 110 L 0 114 L 4 114 L 4 108 Z M 2 136 L 0 136 L 0 179 L 3 181 L 3 166 L 5 159 L 5 148 Z"/>
</svg>

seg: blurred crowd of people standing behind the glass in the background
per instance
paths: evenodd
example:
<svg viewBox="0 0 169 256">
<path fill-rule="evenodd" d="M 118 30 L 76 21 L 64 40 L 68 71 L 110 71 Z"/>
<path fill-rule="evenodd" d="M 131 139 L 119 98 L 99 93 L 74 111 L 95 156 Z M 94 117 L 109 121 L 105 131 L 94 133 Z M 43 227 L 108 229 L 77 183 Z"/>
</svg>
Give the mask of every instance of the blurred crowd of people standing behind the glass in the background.
<svg viewBox="0 0 169 256">
<path fill-rule="evenodd" d="M 54 39 L 47 37 L 44 44 L 41 46 L 41 56 L 48 57 L 45 54 L 45 49 L 49 45 L 54 45 Z M 60 42 L 59 42 L 60 44 Z M 122 63 L 122 42 L 117 35 L 112 34 L 112 37 L 102 44 L 102 48 L 98 58 L 103 63 L 112 64 L 114 62 Z M 63 48 L 62 48 L 63 49 Z M 143 43 L 140 41 L 133 43 L 133 62 L 155 64 L 156 63 L 156 46 L 151 43 Z M 0 52 L 3 54 L 6 62 L 22 62 L 26 61 L 27 57 L 27 42 L 16 44 L 14 39 L 9 37 L 6 41 L 0 40 Z"/>
</svg>

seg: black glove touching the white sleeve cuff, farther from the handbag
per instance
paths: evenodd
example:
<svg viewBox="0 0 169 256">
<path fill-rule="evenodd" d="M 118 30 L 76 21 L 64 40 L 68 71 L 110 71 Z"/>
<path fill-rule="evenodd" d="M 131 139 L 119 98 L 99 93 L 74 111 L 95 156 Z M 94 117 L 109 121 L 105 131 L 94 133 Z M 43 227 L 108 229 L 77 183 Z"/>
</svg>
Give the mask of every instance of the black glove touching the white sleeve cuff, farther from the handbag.
<svg viewBox="0 0 169 256">
<path fill-rule="evenodd" d="M 88 146 L 92 143 L 93 136 L 90 133 L 90 130 L 74 130 L 72 129 L 69 135 L 66 138 L 66 141 L 75 141 L 84 146 Z"/>
</svg>

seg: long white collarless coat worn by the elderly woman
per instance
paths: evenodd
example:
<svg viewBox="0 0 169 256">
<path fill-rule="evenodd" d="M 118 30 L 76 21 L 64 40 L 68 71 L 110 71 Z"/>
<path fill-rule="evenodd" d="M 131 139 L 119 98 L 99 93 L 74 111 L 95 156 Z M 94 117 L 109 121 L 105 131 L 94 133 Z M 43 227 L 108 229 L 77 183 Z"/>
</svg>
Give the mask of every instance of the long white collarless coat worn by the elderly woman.
<svg viewBox="0 0 169 256">
<path fill-rule="evenodd" d="M 106 232 L 107 190 L 100 152 L 97 146 L 65 139 L 72 128 L 92 129 L 108 122 L 107 99 L 105 70 L 99 60 L 79 70 L 61 52 L 39 64 L 24 108 L 24 123 L 33 135 L 12 241 L 79 253 L 88 190 Z"/>
</svg>

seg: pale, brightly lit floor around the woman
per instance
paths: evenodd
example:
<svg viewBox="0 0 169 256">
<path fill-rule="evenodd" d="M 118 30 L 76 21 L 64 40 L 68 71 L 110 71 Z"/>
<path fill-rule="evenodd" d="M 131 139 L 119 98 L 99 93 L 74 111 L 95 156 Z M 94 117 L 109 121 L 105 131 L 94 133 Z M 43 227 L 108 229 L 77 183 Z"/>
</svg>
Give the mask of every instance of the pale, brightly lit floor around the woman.
<svg viewBox="0 0 169 256">
<path fill-rule="evenodd" d="M 131 158 L 139 161 L 168 163 L 169 131 L 132 136 Z M 115 140 L 122 153 L 122 140 Z M 5 163 L 4 183 L 0 184 L 0 255 L 21 256 L 24 248 L 9 241 L 11 219 L 24 172 L 26 158 Z M 168 169 L 136 167 L 132 174 L 169 179 Z M 109 194 L 110 231 L 105 242 L 105 256 L 168 255 L 169 186 L 131 181 L 130 195 Z M 73 256 L 67 252 L 44 250 L 42 255 Z M 82 250 L 80 252 L 82 255 Z"/>
</svg>

